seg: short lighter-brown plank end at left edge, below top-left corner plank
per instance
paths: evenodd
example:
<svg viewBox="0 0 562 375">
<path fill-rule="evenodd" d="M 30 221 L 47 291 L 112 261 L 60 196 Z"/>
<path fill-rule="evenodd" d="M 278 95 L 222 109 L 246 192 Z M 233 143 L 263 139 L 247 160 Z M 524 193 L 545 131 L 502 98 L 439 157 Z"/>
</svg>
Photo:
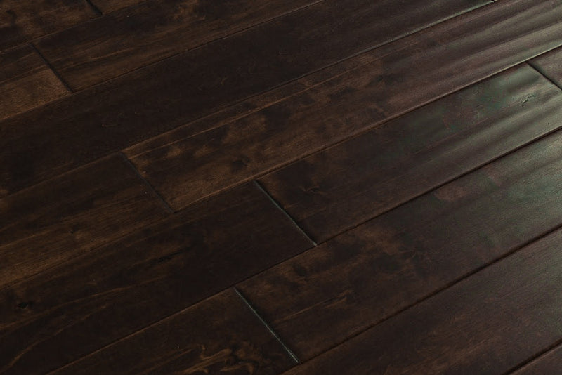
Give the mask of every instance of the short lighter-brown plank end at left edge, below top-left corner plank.
<svg viewBox="0 0 562 375">
<path fill-rule="evenodd" d="M 31 46 L 0 52 L 0 120 L 67 93 Z"/>
</svg>

